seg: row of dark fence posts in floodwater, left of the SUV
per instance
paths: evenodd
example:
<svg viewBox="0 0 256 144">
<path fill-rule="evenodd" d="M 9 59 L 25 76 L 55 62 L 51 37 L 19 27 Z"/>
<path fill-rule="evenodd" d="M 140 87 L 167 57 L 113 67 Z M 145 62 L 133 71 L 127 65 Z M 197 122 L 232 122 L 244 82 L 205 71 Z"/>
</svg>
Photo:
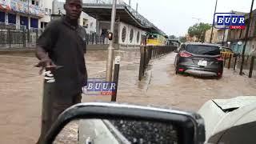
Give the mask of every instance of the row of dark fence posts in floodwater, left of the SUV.
<svg viewBox="0 0 256 144">
<path fill-rule="evenodd" d="M 141 81 L 144 77 L 146 67 L 150 60 L 169 54 L 170 52 L 177 50 L 177 48 L 177 46 L 142 46 L 138 80 Z"/>
</svg>

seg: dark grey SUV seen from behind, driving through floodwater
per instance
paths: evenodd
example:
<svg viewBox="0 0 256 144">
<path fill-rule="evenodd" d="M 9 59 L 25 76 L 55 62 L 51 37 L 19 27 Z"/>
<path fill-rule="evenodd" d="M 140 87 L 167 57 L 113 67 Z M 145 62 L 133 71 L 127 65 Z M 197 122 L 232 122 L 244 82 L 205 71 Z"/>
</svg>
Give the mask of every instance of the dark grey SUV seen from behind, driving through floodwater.
<svg viewBox="0 0 256 144">
<path fill-rule="evenodd" d="M 223 58 L 219 47 L 206 43 L 184 43 L 175 58 L 176 74 L 193 74 L 221 78 Z"/>
</svg>

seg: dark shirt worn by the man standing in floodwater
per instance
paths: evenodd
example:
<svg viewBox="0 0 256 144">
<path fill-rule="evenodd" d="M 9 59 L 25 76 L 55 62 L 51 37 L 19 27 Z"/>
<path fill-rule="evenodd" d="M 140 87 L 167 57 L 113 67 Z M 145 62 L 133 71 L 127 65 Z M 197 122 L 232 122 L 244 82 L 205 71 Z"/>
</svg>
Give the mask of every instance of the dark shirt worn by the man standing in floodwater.
<svg viewBox="0 0 256 144">
<path fill-rule="evenodd" d="M 81 88 L 87 81 L 86 30 L 82 26 L 71 26 L 65 18 L 54 20 L 38 38 L 38 46 L 46 50 L 55 65 L 63 66 L 54 71 L 58 94 L 82 93 Z"/>
</svg>

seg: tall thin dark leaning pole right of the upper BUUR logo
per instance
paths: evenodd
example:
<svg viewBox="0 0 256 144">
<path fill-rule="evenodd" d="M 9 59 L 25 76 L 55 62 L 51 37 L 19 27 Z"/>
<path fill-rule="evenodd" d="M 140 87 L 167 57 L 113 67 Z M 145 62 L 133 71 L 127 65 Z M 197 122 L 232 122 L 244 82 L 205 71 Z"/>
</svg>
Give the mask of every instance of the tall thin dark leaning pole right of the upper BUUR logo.
<svg viewBox="0 0 256 144">
<path fill-rule="evenodd" d="M 243 64 L 245 62 L 246 44 L 247 44 L 247 40 L 248 40 L 248 37 L 249 37 L 250 20 L 251 20 L 251 17 L 252 17 L 253 7 L 254 7 L 254 0 L 252 0 L 252 2 L 251 2 L 250 15 L 249 15 L 248 23 L 247 23 L 247 26 L 246 26 L 246 38 L 245 38 L 245 45 L 243 46 L 243 49 L 242 49 L 242 62 L 241 62 L 240 73 L 239 73 L 240 75 L 242 75 Z"/>
</svg>

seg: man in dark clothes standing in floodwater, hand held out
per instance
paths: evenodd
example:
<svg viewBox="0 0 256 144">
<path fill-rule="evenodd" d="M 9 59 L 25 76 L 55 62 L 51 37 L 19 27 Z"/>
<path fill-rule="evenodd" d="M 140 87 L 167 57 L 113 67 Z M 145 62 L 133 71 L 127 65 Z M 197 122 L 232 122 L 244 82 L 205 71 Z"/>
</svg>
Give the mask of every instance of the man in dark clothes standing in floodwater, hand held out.
<svg viewBox="0 0 256 144">
<path fill-rule="evenodd" d="M 86 86 L 86 30 L 78 25 L 82 0 L 66 0 L 66 16 L 50 22 L 38 38 L 38 67 L 46 69 L 42 129 L 38 143 L 66 108 L 80 103 L 82 87 Z"/>
</svg>

